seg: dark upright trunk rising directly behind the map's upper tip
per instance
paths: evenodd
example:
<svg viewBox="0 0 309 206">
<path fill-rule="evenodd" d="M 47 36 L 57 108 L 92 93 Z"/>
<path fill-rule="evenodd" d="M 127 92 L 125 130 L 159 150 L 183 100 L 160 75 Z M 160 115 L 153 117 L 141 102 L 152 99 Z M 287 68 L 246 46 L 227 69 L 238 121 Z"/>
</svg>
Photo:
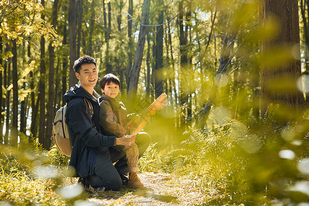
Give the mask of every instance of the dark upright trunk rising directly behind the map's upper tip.
<svg viewBox="0 0 309 206">
<path fill-rule="evenodd" d="M 163 2 L 159 3 L 159 5 L 163 5 Z M 156 59 L 155 59 L 155 95 L 156 98 L 163 93 L 163 11 L 159 14 L 157 26 L 157 36 L 156 36 Z"/>
</svg>

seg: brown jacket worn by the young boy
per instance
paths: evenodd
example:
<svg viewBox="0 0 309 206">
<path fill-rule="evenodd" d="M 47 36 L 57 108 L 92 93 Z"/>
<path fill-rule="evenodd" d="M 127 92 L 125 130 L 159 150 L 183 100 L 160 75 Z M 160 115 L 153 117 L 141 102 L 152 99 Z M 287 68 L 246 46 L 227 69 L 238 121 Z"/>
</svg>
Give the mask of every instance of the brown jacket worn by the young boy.
<svg viewBox="0 0 309 206">
<path fill-rule="evenodd" d="M 126 107 L 115 98 L 102 95 L 100 102 L 100 127 L 102 135 L 126 135 Z"/>
</svg>

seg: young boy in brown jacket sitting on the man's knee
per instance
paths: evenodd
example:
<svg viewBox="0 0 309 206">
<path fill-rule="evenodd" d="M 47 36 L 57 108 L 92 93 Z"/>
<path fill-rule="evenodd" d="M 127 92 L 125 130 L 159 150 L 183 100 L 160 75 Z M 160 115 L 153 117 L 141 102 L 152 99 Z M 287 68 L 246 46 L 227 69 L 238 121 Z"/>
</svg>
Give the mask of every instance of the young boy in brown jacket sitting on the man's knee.
<svg viewBox="0 0 309 206">
<path fill-rule="evenodd" d="M 100 102 L 100 126 L 102 135 L 115 135 L 124 137 L 130 135 L 127 128 L 126 107 L 122 102 L 115 99 L 119 94 L 120 80 L 112 73 L 106 74 L 100 81 L 102 96 Z M 114 146 L 119 152 L 126 152 L 128 168 L 125 171 L 128 176 L 128 187 L 143 188 L 137 176 L 137 161 L 139 160 L 139 149 L 137 144 L 131 146 Z"/>
</svg>

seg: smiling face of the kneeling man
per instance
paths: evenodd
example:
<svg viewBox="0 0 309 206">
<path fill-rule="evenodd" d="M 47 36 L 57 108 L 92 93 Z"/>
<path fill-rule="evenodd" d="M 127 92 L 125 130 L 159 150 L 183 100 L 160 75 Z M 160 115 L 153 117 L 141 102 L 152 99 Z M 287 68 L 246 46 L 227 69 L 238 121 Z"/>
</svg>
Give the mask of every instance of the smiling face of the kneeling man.
<svg viewBox="0 0 309 206">
<path fill-rule="evenodd" d="M 97 67 L 93 63 L 84 64 L 80 67 L 80 73 L 75 73 L 76 78 L 80 80 L 80 85 L 84 89 L 89 89 L 95 87 L 95 84 L 98 82 L 98 71 Z"/>
</svg>

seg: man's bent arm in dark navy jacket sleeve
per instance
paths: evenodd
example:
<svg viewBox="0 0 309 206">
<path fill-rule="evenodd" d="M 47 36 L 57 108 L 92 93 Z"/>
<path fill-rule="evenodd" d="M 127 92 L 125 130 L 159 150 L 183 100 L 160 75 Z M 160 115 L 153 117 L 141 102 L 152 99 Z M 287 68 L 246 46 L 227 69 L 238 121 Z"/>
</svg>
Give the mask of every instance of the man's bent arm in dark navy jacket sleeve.
<svg viewBox="0 0 309 206">
<path fill-rule="evenodd" d="M 88 108 L 89 111 L 89 108 Z M 91 121 L 90 114 L 82 98 L 70 101 L 67 108 L 67 124 L 70 130 L 88 147 L 110 147 L 115 144 L 115 136 L 100 135 Z M 71 139 L 72 144 L 75 139 Z"/>
</svg>

